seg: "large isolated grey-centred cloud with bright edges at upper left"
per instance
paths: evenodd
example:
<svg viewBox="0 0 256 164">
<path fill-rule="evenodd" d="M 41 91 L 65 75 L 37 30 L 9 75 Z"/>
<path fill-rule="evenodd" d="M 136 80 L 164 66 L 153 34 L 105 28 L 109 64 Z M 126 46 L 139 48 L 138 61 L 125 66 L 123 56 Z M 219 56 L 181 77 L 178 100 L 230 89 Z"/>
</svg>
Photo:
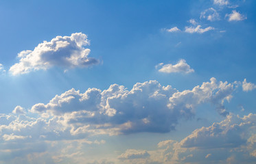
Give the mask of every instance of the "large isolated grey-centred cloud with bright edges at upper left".
<svg viewBox="0 0 256 164">
<path fill-rule="evenodd" d="M 88 57 L 90 49 L 85 49 L 86 45 L 89 45 L 89 40 L 84 33 L 57 36 L 50 42 L 38 44 L 33 51 L 21 51 L 18 54 L 19 63 L 14 64 L 9 71 L 17 75 L 33 70 L 47 70 L 53 66 L 69 69 L 98 64 L 97 59 Z"/>
</svg>

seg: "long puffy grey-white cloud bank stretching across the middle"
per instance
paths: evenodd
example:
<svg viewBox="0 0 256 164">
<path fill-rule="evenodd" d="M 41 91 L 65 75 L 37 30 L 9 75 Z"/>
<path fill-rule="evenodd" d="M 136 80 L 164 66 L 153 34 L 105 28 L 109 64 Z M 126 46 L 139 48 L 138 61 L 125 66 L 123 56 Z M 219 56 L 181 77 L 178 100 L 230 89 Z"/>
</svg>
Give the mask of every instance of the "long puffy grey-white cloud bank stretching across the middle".
<svg viewBox="0 0 256 164">
<path fill-rule="evenodd" d="M 104 91 L 89 88 L 80 93 L 72 89 L 56 95 L 47 104 L 34 105 L 28 113 L 19 106 L 14 109 L 14 113 L 23 115 L 2 115 L 0 131 L 32 136 L 31 141 L 167 133 L 175 129 L 181 118 L 193 118 L 196 107 L 202 103 L 211 103 L 220 115 L 229 114 L 223 103 L 231 99 L 234 85 L 211 78 L 210 82 L 182 92 L 157 81 L 136 83 L 130 91 L 117 84 Z M 36 118 L 28 116 L 36 113 Z"/>
</svg>

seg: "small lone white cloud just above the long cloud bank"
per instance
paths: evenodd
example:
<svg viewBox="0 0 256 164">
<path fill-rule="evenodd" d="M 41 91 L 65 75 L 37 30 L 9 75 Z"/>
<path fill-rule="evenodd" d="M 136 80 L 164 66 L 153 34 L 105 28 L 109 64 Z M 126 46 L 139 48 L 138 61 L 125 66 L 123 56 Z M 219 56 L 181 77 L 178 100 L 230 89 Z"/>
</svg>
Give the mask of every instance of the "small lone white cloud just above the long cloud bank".
<svg viewBox="0 0 256 164">
<path fill-rule="evenodd" d="M 157 65 L 156 68 L 159 68 L 159 72 L 164 73 L 184 72 L 187 74 L 194 72 L 194 69 L 190 68 L 190 66 L 186 63 L 185 59 L 179 60 L 178 63 L 175 65 L 161 63 Z"/>
</svg>

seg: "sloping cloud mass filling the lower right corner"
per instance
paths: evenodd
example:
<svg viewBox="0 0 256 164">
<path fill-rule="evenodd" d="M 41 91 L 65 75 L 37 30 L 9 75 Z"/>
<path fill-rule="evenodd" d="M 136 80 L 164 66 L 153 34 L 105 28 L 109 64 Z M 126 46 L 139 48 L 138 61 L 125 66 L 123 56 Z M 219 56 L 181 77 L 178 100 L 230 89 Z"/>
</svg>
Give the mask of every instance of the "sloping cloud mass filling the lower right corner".
<svg viewBox="0 0 256 164">
<path fill-rule="evenodd" d="M 181 141 L 160 141 L 156 150 L 143 150 L 150 154 L 146 163 L 255 163 L 255 123 L 253 113 L 227 115 Z"/>
</svg>

